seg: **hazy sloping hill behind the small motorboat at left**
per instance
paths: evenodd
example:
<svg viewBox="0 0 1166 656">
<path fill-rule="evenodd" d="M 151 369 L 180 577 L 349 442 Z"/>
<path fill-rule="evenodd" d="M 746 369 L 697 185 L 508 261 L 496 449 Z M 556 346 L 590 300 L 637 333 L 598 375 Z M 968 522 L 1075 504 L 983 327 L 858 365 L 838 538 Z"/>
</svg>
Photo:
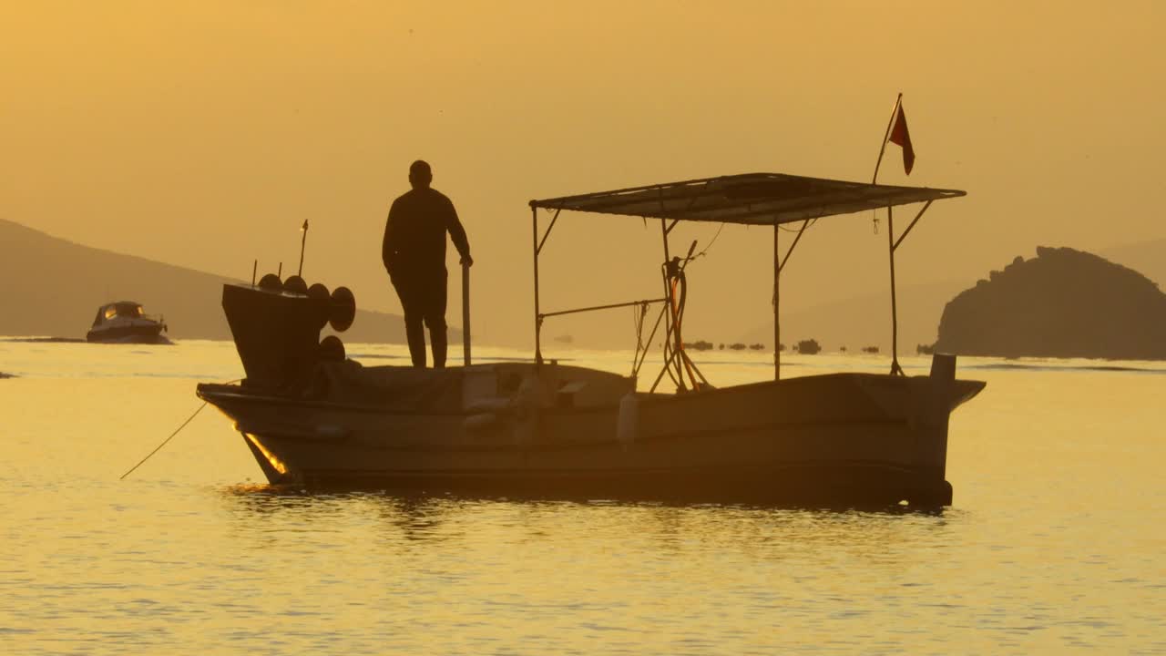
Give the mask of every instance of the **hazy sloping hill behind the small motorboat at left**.
<svg viewBox="0 0 1166 656">
<path fill-rule="evenodd" d="M 230 340 L 222 289 L 225 282 L 240 282 L 82 246 L 5 219 L 0 219 L 0 280 L 6 305 L 0 335 L 83 339 L 98 306 L 133 300 L 147 313 L 166 315 L 174 340 Z M 451 342 L 461 339 L 456 330 L 450 333 Z M 357 310 L 342 339 L 403 343 L 405 323 L 400 315 Z"/>
</svg>

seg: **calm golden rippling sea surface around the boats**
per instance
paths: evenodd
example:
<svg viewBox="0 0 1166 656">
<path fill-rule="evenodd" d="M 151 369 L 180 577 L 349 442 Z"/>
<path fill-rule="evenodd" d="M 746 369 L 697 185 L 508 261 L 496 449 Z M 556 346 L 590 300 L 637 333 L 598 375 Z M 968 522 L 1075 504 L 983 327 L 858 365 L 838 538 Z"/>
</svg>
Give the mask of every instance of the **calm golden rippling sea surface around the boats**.
<svg viewBox="0 0 1166 656">
<path fill-rule="evenodd" d="M 1166 652 L 1164 363 L 962 358 L 940 514 L 274 491 L 213 409 L 119 481 L 232 344 L 0 341 L 0 371 L 2 654 Z"/>
</svg>

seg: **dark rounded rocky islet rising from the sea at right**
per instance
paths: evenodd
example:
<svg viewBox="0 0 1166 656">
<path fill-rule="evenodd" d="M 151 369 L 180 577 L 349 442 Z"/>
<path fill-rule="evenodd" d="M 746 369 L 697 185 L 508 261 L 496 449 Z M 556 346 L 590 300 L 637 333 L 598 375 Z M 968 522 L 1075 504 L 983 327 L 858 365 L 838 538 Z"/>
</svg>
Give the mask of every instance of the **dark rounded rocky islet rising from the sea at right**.
<svg viewBox="0 0 1166 656">
<path fill-rule="evenodd" d="M 1166 294 L 1145 275 L 1039 246 L 943 309 L 936 350 L 1004 357 L 1166 360 Z"/>
</svg>

